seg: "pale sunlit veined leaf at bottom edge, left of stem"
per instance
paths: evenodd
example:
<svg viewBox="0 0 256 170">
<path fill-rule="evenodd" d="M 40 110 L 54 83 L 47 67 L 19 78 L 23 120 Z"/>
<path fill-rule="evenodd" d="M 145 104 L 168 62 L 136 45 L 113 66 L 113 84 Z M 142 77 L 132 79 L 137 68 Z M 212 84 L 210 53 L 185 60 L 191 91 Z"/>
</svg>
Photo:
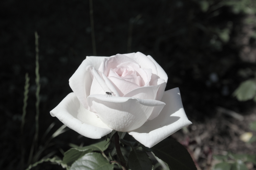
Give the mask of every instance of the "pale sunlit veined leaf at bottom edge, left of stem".
<svg viewBox="0 0 256 170">
<path fill-rule="evenodd" d="M 114 165 L 110 164 L 100 153 L 86 153 L 72 164 L 69 170 L 113 170 Z"/>
</svg>

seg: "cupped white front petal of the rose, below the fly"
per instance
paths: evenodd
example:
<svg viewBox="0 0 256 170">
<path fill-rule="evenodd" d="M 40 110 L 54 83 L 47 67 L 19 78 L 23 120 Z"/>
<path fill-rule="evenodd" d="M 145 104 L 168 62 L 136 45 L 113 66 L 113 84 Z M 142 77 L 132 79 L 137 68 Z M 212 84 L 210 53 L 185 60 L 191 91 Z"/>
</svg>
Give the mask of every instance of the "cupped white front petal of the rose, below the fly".
<svg viewBox="0 0 256 170">
<path fill-rule="evenodd" d="M 93 94 L 87 98 L 91 109 L 102 122 L 120 132 L 127 132 L 143 125 L 155 106 L 165 103 L 158 100 L 138 99 L 133 97 L 106 97 Z"/>
</svg>

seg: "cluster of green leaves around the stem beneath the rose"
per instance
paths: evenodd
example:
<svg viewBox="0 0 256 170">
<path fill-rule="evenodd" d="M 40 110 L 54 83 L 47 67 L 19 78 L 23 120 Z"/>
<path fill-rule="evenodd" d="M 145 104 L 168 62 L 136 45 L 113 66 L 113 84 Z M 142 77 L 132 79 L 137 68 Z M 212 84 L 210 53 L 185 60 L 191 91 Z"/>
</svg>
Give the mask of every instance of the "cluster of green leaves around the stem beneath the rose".
<svg viewBox="0 0 256 170">
<path fill-rule="evenodd" d="M 118 159 L 115 159 L 115 154 L 111 156 L 111 151 L 108 146 L 111 143 L 110 139 L 101 141 L 85 147 L 75 147 L 65 152 L 63 160 L 55 159 L 42 159 L 39 162 L 30 165 L 34 167 L 39 163 L 45 161 L 57 162 L 62 167 L 68 170 L 113 170 L 115 168 L 122 168 Z M 123 149 L 130 150 L 131 152 L 123 152 L 125 157 L 128 157 L 127 164 L 130 170 L 151 170 L 153 163 L 147 152 L 153 152 L 157 158 L 166 162 L 170 169 L 183 169 L 183 170 L 196 170 L 196 166 L 189 155 L 188 151 L 177 141 L 173 139 L 165 139 L 152 148 L 147 148 L 137 141 L 126 141 L 121 139 L 121 143 L 126 145 Z M 104 152 L 108 151 L 108 156 Z M 124 150 L 123 150 L 124 151 Z M 100 152 L 100 153 L 98 153 Z M 109 162 L 111 160 L 111 162 Z M 123 167 L 124 168 L 124 167 Z"/>
</svg>

